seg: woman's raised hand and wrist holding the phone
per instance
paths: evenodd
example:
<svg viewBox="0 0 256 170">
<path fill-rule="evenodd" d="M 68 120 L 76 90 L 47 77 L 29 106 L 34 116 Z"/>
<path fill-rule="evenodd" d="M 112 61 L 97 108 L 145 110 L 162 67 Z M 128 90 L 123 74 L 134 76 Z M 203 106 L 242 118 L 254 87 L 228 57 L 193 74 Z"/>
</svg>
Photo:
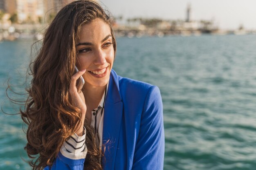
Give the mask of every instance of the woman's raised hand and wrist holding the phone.
<svg viewBox="0 0 256 170">
<path fill-rule="evenodd" d="M 82 76 L 85 73 L 85 70 L 80 70 L 78 72 L 76 72 L 76 74 L 74 74 L 71 77 L 71 82 L 70 82 L 70 96 L 72 98 L 72 100 L 74 101 L 74 104 L 76 107 L 78 107 L 81 112 L 82 112 L 82 117 L 81 117 L 81 122 L 80 125 L 78 126 L 79 128 L 76 129 L 75 133 L 78 136 L 82 136 L 83 135 L 83 122 L 85 120 L 85 113 L 87 110 L 87 107 L 85 105 L 85 98 L 83 96 L 83 92 L 78 93 L 77 92 L 77 88 L 76 88 L 76 80 Z"/>
</svg>

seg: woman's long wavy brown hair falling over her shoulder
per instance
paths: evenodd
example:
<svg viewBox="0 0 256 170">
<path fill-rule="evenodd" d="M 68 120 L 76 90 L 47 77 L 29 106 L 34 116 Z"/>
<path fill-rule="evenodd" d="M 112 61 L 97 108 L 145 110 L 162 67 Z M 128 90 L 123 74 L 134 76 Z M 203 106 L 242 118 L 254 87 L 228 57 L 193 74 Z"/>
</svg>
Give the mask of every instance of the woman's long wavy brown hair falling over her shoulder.
<svg viewBox="0 0 256 170">
<path fill-rule="evenodd" d="M 109 13 L 97 2 L 77 0 L 61 9 L 47 28 L 43 44 L 31 63 L 32 80 L 22 120 L 28 125 L 25 150 L 33 170 L 52 165 L 63 145 L 81 121 L 81 111 L 74 107 L 69 94 L 76 62 L 76 44 L 81 26 L 100 18 L 109 24 L 113 48 L 116 41 Z M 88 153 L 84 169 L 102 169 L 102 156 L 94 132 L 85 124 Z M 37 157 L 39 155 L 39 157 Z"/>
</svg>

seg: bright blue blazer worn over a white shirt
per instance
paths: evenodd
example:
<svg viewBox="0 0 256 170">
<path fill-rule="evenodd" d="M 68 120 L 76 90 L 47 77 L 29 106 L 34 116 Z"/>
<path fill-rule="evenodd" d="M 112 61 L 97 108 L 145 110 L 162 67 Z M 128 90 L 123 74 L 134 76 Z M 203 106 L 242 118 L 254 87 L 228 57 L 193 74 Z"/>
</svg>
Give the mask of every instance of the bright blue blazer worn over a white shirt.
<svg viewBox="0 0 256 170">
<path fill-rule="evenodd" d="M 159 88 L 118 76 L 111 71 L 105 100 L 101 159 L 104 170 L 162 170 L 164 124 Z M 84 159 L 72 160 L 59 153 L 45 170 L 83 170 Z"/>
</svg>

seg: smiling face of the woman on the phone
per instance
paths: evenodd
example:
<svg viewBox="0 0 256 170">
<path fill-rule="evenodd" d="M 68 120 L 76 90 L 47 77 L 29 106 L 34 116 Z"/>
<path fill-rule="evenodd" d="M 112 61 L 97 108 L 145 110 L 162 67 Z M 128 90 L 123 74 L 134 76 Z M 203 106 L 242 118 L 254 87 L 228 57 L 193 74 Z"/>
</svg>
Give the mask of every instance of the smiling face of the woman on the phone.
<svg viewBox="0 0 256 170">
<path fill-rule="evenodd" d="M 105 86 L 114 62 L 114 48 L 110 26 L 97 18 L 81 27 L 76 46 L 76 66 L 86 69 L 83 78 L 86 87 Z"/>
</svg>

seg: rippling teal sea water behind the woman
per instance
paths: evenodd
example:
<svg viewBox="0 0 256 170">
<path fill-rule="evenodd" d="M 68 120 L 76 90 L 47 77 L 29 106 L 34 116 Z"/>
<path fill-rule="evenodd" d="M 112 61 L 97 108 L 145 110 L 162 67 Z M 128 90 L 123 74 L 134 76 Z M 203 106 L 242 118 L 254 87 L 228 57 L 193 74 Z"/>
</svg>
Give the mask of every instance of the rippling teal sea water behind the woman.
<svg viewBox="0 0 256 170">
<path fill-rule="evenodd" d="M 0 100 L 7 113 L 19 109 L 6 97 L 7 80 L 25 93 L 32 42 L 0 44 Z M 255 45 L 256 35 L 117 38 L 113 69 L 161 91 L 165 170 L 256 169 Z M 0 169 L 30 169 L 20 115 L 0 113 L 0 131 Z"/>
</svg>

